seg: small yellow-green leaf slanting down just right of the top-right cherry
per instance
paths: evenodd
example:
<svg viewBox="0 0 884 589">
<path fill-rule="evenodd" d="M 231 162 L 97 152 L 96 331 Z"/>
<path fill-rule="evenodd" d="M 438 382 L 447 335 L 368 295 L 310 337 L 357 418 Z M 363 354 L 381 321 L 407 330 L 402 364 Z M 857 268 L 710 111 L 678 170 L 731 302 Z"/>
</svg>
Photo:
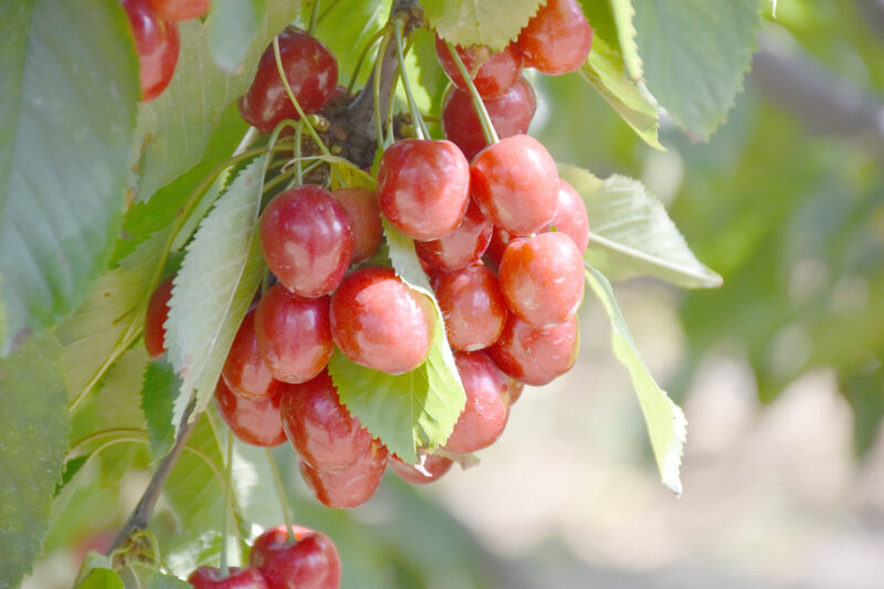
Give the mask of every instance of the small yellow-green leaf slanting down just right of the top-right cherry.
<svg viewBox="0 0 884 589">
<path fill-rule="evenodd" d="M 663 149 L 657 139 L 660 116 L 656 107 L 629 78 L 620 53 L 604 40 L 596 38 L 592 51 L 580 69 L 580 75 L 601 94 L 641 139 L 655 149 Z"/>
</svg>

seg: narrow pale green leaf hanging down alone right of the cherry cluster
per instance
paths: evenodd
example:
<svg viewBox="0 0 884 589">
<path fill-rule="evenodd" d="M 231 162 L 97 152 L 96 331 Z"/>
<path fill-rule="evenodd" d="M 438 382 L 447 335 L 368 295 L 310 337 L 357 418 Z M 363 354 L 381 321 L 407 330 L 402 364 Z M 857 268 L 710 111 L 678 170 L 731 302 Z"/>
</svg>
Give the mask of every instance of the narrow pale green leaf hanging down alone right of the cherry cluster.
<svg viewBox="0 0 884 589">
<path fill-rule="evenodd" d="M 687 438 L 687 420 L 681 408 L 672 402 L 666 391 L 660 388 L 654 377 L 648 371 L 632 335 L 629 333 L 623 315 L 614 298 L 611 283 L 604 274 L 587 264 L 587 282 L 596 292 L 604 311 L 611 318 L 611 347 L 614 356 L 629 370 L 632 386 L 639 395 L 651 446 L 654 450 L 660 477 L 676 495 L 682 494 L 682 481 L 678 471 L 682 465 L 684 444 Z"/>
</svg>

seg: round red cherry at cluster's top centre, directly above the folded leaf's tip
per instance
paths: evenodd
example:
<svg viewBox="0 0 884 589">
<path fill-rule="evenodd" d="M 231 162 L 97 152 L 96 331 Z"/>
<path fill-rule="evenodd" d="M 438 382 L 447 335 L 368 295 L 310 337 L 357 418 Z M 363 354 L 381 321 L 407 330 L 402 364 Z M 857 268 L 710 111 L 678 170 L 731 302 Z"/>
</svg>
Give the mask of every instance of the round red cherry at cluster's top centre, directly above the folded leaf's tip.
<svg viewBox="0 0 884 589">
<path fill-rule="evenodd" d="M 454 231 L 470 202 L 470 164 L 451 141 L 391 145 L 378 167 L 380 210 L 399 231 L 434 240 Z"/>
</svg>

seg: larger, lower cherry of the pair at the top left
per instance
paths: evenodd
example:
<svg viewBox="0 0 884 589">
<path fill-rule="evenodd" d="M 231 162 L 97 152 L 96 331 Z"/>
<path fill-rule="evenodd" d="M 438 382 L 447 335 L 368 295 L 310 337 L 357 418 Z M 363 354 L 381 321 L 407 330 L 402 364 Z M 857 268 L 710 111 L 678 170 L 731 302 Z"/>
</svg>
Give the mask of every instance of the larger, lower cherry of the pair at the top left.
<svg viewBox="0 0 884 589">
<path fill-rule="evenodd" d="M 178 63 L 178 27 L 156 14 L 145 0 L 122 0 L 138 52 L 141 99 L 152 101 L 166 90 Z"/>
</svg>

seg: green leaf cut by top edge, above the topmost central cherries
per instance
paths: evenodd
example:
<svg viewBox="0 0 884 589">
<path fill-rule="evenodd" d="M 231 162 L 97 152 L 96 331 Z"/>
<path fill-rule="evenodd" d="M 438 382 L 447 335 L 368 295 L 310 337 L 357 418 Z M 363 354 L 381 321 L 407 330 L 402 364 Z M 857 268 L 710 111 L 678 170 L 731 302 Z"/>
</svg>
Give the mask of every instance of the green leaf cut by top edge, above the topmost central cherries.
<svg viewBox="0 0 884 589">
<path fill-rule="evenodd" d="M 503 51 L 518 36 L 543 0 L 424 0 L 430 25 L 455 45 L 483 44 Z"/>
</svg>

